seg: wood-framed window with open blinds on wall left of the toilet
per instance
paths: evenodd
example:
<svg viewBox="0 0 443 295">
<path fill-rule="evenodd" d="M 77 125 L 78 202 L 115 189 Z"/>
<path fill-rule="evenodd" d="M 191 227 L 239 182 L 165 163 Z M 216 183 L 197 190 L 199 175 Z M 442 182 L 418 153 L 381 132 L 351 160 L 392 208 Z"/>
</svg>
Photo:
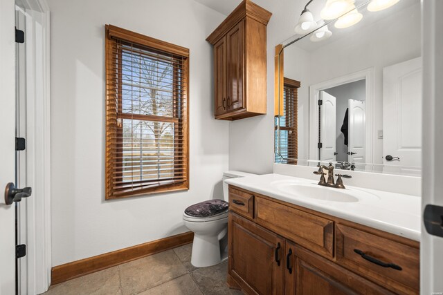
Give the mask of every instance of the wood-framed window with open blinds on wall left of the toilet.
<svg viewBox="0 0 443 295">
<path fill-rule="evenodd" d="M 189 50 L 106 26 L 106 198 L 189 188 Z"/>
</svg>

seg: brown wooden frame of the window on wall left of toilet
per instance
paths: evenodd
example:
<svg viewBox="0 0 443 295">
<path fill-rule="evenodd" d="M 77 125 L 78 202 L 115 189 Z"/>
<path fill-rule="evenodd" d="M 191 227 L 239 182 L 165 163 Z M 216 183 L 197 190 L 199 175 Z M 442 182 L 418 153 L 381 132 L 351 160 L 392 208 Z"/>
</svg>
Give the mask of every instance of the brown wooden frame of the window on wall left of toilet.
<svg viewBox="0 0 443 295">
<path fill-rule="evenodd" d="M 118 28 L 116 26 L 106 25 L 105 26 L 105 72 L 106 72 L 106 151 L 105 151 L 105 199 L 116 199 L 116 198 L 129 198 L 133 196 L 141 196 L 141 195 L 150 195 L 154 193 L 166 193 L 171 191 L 185 191 L 189 189 L 189 49 L 181 46 L 177 46 L 174 44 L 170 44 L 165 41 L 161 41 L 159 39 L 154 39 L 152 37 L 147 37 L 145 35 L 138 34 L 136 32 L 132 32 L 129 30 L 125 30 L 123 28 Z M 183 105 L 183 113 L 181 113 L 181 117 L 177 115 L 178 108 L 177 105 L 177 97 L 174 93 L 177 93 L 179 88 L 177 83 L 173 82 L 173 115 L 172 117 L 162 116 L 162 115 L 143 115 L 136 113 L 124 113 L 122 102 L 123 102 L 123 83 L 121 79 L 123 77 L 123 73 L 121 72 L 122 66 L 118 67 L 118 70 L 112 68 L 112 64 L 116 64 L 116 58 L 120 63 L 122 61 L 121 55 L 123 48 L 118 52 L 118 56 L 113 53 L 113 48 L 116 39 L 122 42 L 127 42 L 128 44 L 134 44 L 134 46 L 140 46 L 142 49 L 149 49 L 153 53 L 165 53 L 168 55 L 172 55 L 175 59 L 181 59 L 183 65 L 183 85 L 180 90 L 180 98 L 183 99 L 181 104 Z M 177 66 L 173 65 L 173 79 L 177 79 L 178 69 Z M 118 79 L 118 95 L 114 95 L 112 97 L 111 91 L 114 89 L 114 83 L 110 82 L 112 77 L 117 77 Z M 117 101 L 117 107 L 110 108 L 110 102 L 114 100 Z M 115 111 L 114 111 L 115 109 Z M 113 111 L 113 113 L 111 113 Z M 120 124 L 118 122 L 120 120 Z M 183 169 L 183 172 L 179 172 L 183 174 L 183 181 L 181 182 L 172 182 L 170 184 L 159 184 L 158 186 L 148 187 L 144 189 L 136 189 L 127 191 L 114 189 L 114 182 L 117 182 L 118 179 L 114 178 L 114 174 L 118 171 L 114 168 L 114 162 L 118 159 L 118 155 L 113 155 L 114 146 L 116 146 L 116 151 L 120 151 L 120 158 L 123 159 L 123 140 L 121 136 L 123 135 L 123 120 L 143 120 L 150 122 L 169 122 L 174 124 L 174 138 L 177 138 L 177 134 L 183 133 L 183 140 L 180 140 L 180 145 L 177 145 L 174 141 L 174 175 L 179 169 Z M 112 126 L 111 126 L 112 125 Z M 180 130 L 181 126 L 181 130 Z M 118 137 L 111 137 L 112 129 L 118 129 L 119 132 Z M 121 132 L 120 132 L 121 131 Z M 181 136 L 181 135 L 180 135 Z M 177 151 L 179 150 L 179 152 Z M 123 169 L 123 166 L 122 166 Z M 123 171 L 120 174 L 123 178 Z M 173 180 L 171 178 L 170 180 Z M 148 185 L 149 182 L 164 182 L 168 179 L 159 179 L 159 180 L 140 180 L 129 182 L 130 184 L 143 184 L 146 183 Z"/>
</svg>

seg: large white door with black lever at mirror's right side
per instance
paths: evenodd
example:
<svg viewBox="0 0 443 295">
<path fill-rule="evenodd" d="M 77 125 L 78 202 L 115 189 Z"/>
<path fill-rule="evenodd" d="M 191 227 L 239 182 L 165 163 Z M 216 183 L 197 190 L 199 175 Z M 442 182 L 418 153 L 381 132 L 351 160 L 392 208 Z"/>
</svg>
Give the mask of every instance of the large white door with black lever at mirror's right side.
<svg viewBox="0 0 443 295">
<path fill-rule="evenodd" d="M 422 166 L 421 57 L 383 68 L 383 164 Z"/>
</svg>

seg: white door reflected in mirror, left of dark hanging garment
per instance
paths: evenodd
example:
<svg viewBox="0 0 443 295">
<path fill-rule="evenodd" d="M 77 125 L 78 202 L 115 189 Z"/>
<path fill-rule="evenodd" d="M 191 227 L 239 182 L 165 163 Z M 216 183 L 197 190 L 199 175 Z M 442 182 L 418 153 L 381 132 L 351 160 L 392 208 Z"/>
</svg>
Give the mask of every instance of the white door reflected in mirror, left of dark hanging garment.
<svg viewBox="0 0 443 295">
<path fill-rule="evenodd" d="M 321 106 L 321 142 L 320 160 L 335 161 L 336 151 L 336 98 L 320 91 Z"/>
</svg>

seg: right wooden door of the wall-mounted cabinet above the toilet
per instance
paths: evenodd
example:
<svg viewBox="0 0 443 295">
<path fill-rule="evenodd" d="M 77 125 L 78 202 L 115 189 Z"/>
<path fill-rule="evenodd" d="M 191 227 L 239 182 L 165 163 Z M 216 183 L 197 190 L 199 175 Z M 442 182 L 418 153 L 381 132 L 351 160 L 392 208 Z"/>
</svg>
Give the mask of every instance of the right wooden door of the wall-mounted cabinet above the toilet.
<svg viewBox="0 0 443 295">
<path fill-rule="evenodd" d="M 237 23 L 226 35 L 228 46 L 228 108 L 234 111 L 244 103 L 244 20 Z"/>
</svg>

